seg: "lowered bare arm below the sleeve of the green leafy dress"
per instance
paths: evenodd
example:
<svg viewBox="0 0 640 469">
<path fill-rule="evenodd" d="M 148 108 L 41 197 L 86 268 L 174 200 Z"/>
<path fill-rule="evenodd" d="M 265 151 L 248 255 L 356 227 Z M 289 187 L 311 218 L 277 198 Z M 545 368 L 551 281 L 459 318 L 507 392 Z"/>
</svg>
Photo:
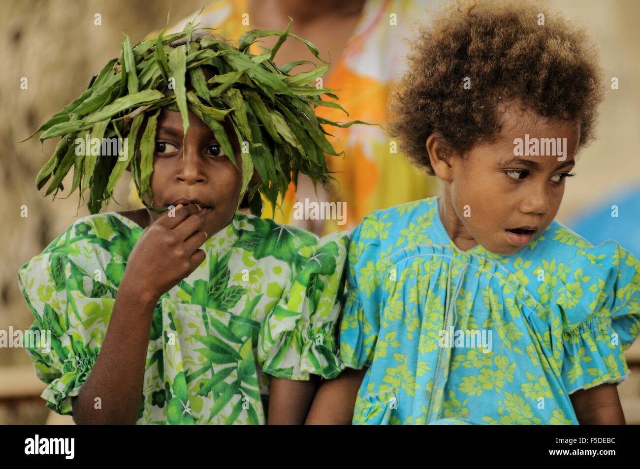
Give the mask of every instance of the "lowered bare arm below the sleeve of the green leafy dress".
<svg viewBox="0 0 640 469">
<path fill-rule="evenodd" d="M 271 376 L 269 384 L 269 411 L 267 425 L 302 425 L 314 394 L 319 377 L 312 374 L 309 381 Z"/>
</svg>

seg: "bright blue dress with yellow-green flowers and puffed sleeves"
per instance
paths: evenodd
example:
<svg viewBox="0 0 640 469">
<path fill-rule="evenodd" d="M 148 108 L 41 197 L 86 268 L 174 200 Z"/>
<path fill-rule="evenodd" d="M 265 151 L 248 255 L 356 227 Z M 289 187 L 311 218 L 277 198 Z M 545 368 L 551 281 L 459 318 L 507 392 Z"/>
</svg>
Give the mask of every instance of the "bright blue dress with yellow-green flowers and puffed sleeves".
<svg viewBox="0 0 640 469">
<path fill-rule="evenodd" d="M 618 383 L 640 335 L 640 266 L 556 221 L 513 255 L 461 251 L 438 198 L 367 216 L 351 235 L 340 327 L 369 367 L 354 424 L 578 424 L 570 394 Z"/>
</svg>

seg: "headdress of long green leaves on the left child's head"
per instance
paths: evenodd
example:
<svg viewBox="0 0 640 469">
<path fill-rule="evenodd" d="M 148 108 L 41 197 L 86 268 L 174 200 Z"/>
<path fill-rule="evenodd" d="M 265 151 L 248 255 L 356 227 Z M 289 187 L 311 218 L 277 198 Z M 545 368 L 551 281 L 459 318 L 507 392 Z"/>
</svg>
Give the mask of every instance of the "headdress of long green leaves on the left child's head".
<svg viewBox="0 0 640 469">
<path fill-rule="evenodd" d="M 156 122 L 164 106 L 180 111 L 185 135 L 191 109 L 214 132 L 221 148 L 237 167 L 222 122 L 226 120 L 232 125 L 238 147 L 249 148 L 249 152 L 242 153 L 241 193 L 249 189 L 254 214 L 259 214 L 262 207 L 258 192 L 275 209 L 278 195 L 284 195 L 289 183 L 293 181 L 297 186 L 299 173 L 310 177 L 314 184 L 326 185 L 332 177 L 324 152 L 342 153 L 335 152 L 326 139 L 330 134 L 322 125 L 349 127 L 365 122 L 342 124 L 316 116 L 316 106 L 344 111 L 336 102 L 321 99 L 326 95 L 337 100 L 331 93 L 335 90 L 307 84 L 322 76 L 328 65 L 295 75 L 290 74 L 294 67 L 311 62 L 301 60 L 276 67 L 273 57 L 289 36 L 304 42 L 318 60 L 328 64 L 318 57 L 314 45 L 289 33 L 290 26 L 291 22 L 285 31 L 248 31 L 240 38 L 237 49 L 211 34 L 203 35 L 204 29 L 194 35 L 191 24 L 181 33 L 168 36 L 164 36 L 165 28 L 157 39 L 144 40 L 134 47 L 125 36 L 120 59 L 109 61 L 99 75 L 92 77 L 84 93 L 34 132 L 33 135 L 42 132 L 40 141 L 61 137 L 54 154 L 36 177 L 38 190 L 51 179 L 45 195 L 54 193 L 55 198 L 58 190 L 64 190 L 62 180 L 74 166 L 70 193 L 80 189 L 79 206 L 89 188 L 88 208 L 95 214 L 103 202 L 105 205 L 109 202 L 116 183 L 131 163 L 131 175 L 140 199 L 148 209 L 163 211 L 147 205 L 143 197 L 149 195 L 153 204 L 150 177 Z M 261 47 L 264 53 L 257 56 L 249 52 L 258 38 L 272 35 L 280 36 L 273 49 Z M 218 73 L 207 80 L 203 67 L 211 66 Z M 187 80 L 193 90 L 187 89 Z M 173 95 L 164 94 L 168 88 L 173 89 Z M 143 126 L 145 117 L 147 125 Z M 102 155 L 102 152 L 87 154 L 86 149 L 76 151 L 80 145 L 77 139 L 83 140 L 87 135 L 88 143 L 95 141 L 93 139 L 118 138 L 120 142 L 127 141 L 127 145 L 119 157 Z M 242 145 L 243 142 L 248 145 Z M 140 157 L 136 157 L 137 150 Z M 254 168 L 261 182 L 249 187 Z"/>
</svg>

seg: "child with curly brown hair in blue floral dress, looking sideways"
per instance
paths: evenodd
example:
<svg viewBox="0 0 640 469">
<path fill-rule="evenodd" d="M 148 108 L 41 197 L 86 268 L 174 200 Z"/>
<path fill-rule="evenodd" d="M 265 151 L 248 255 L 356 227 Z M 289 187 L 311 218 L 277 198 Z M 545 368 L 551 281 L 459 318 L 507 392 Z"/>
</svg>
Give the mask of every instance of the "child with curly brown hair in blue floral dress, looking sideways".
<svg viewBox="0 0 640 469">
<path fill-rule="evenodd" d="M 535 4 L 452 6 L 422 33 L 392 131 L 444 191 L 351 235 L 349 370 L 308 422 L 624 423 L 640 266 L 554 221 L 602 89 L 584 33 Z"/>
</svg>

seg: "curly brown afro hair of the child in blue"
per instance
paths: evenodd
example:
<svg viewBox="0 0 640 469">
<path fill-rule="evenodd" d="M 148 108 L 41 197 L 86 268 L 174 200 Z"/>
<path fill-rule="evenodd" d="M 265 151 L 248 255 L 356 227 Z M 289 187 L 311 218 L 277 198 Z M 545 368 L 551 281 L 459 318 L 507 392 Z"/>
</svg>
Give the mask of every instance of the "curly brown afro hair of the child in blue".
<svg viewBox="0 0 640 469">
<path fill-rule="evenodd" d="M 451 4 L 420 30 L 412 49 L 388 130 L 431 175 L 429 135 L 464 155 L 499 135 L 500 102 L 579 123 L 579 148 L 593 138 L 604 99 L 597 51 L 583 29 L 547 7 L 529 0 Z"/>
</svg>

